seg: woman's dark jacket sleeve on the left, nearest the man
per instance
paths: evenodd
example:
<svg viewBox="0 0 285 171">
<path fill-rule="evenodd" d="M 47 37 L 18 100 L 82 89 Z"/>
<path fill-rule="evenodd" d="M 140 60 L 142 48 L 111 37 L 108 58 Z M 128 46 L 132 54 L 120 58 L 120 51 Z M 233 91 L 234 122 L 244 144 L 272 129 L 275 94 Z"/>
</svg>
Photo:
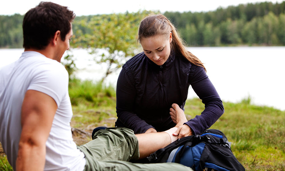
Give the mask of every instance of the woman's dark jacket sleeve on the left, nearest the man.
<svg viewBox="0 0 285 171">
<path fill-rule="evenodd" d="M 146 132 L 150 128 L 154 128 L 142 120 L 134 112 L 136 90 L 135 86 L 131 83 L 126 71 L 122 68 L 116 88 L 116 112 L 118 119 L 127 128 L 133 130 L 135 134 Z"/>
</svg>

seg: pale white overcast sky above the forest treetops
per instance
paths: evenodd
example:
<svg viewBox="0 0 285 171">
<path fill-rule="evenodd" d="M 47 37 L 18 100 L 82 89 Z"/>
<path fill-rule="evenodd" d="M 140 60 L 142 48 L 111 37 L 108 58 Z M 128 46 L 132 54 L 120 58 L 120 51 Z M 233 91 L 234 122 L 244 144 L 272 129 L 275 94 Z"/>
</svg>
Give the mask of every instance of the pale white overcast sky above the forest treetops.
<svg viewBox="0 0 285 171">
<path fill-rule="evenodd" d="M 0 6 L 0 15 L 13 15 L 19 13 L 25 14 L 29 9 L 39 4 L 40 0 L 3 0 Z M 213 11 L 218 7 L 227 7 L 230 5 L 265 2 L 260 0 L 174 0 L 174 1 L 156 1 L 156 0 L 51 0 L 63 6 L 68 6 L 77 16 L 137 12 L 140 9 L 165 11 L 192 11 L 207 12 Z M 268 1 L 269 2 L 269 1 Z M 271 1 L 280 3 L 282 0 Z"/>
</svg>

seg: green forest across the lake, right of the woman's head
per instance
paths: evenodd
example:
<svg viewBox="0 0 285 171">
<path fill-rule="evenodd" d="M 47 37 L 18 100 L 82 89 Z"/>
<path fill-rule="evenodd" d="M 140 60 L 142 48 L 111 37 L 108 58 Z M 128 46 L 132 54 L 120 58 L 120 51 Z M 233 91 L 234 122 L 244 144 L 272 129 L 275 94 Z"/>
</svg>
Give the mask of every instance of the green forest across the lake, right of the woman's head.
<svg viewBox="0 0 285 171">
<path fill-rule="evenodd" d="M 191 46 L 285 45 L 285 1 L 218 8 L 206 13 L 165 12 Z"/>
</svg>

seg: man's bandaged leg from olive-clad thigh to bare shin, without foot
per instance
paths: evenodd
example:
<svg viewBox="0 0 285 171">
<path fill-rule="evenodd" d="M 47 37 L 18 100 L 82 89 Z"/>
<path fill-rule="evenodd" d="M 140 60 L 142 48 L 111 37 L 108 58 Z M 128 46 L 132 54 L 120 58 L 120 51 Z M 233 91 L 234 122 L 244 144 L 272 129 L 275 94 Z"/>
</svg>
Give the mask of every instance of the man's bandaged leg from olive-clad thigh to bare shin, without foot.
<svg viewBox="0 0 285 171">
<path fill-rule="evenodd" d="M 85 158 L 90 160 L 109 161 L 109 160 L 137 160 L 148 157 L 156 150 L 163 148 L 171 143 L 177 136 L 169 132 L 156 132 L 134 135 L 133 131 L 127 128 L 106 128 L 95 133 L 93 140 L 78 149 L 85 154 Z"/>
</svg>

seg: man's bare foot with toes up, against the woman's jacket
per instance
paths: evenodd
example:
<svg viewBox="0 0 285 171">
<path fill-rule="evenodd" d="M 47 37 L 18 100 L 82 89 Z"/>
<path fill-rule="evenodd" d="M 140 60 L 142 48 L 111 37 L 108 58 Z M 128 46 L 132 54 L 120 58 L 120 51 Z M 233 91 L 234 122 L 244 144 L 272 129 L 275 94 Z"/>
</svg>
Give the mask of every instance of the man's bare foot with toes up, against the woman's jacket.
<svg viewBox="0 0 285 171">
<path fill-rule="evenodd" d="M 185 122 L 187 122 L 184 111 L 176 103 L 172 104 L 172 108 L 170 108 L 169 114 L 173 122 L 176 124 L 175 127 L 180 127 Z"/>
</svg>

